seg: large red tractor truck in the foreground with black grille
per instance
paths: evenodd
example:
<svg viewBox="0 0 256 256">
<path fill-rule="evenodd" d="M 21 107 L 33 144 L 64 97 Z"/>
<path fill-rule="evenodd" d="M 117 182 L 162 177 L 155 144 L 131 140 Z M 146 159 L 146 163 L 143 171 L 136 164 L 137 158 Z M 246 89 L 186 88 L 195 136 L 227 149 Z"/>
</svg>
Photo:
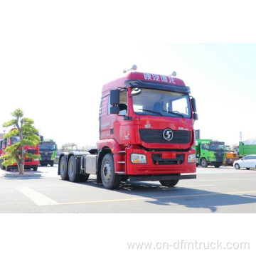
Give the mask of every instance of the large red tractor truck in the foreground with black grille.
<svg viewBox="0 0 256 256">
<path fill-rule="evenodd" d="M 196 100 L 183 80 L 127 73 L 102 87 L 97 149 L 61 153 L 58 174 L 73 182 L 94 174 L 109 189 L 128 179 L 175 186 L 196 178 L 196 119 Z"/>
</svg>

